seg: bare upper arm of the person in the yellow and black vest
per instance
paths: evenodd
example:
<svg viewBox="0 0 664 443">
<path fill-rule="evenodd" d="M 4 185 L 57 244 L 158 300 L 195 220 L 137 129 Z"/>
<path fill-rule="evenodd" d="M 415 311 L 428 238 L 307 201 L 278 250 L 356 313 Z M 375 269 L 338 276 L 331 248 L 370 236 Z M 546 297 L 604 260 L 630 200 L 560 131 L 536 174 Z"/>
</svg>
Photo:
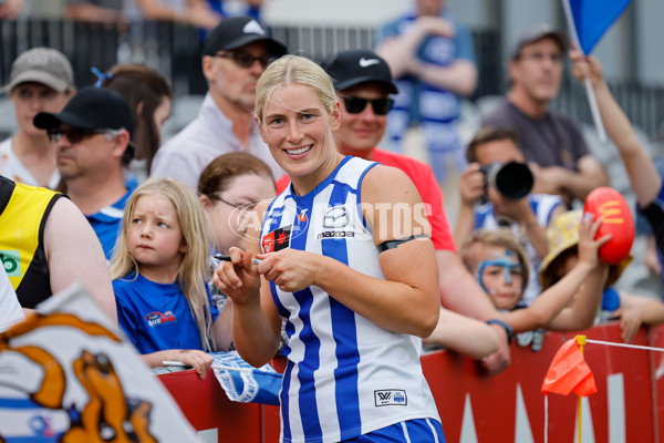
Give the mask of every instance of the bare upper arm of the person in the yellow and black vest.
<svg viewBox="0 0 664 443">
<path fill-rule="evenodd" d="M 104 312 L 117 322 L 115 296 L 102 245 L 90 223 L 68 198 L 59 198 L 49 214 L 44 249 L 53 292 L 80 281 Z"/>
</svg>

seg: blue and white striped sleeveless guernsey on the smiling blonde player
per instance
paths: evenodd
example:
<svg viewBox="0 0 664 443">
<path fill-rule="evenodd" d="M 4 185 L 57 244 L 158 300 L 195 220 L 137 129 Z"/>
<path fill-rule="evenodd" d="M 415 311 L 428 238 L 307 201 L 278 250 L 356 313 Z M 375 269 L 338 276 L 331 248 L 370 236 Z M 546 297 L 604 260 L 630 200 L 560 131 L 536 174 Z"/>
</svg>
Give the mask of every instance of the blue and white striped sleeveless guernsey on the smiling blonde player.
<svg viewBox="0 0 664 443">
<path fill-rule="evenodd" d="M 359 203 L 375 163 L 345 157 L 314 190 L 287 188 L 263 220 L 263 253 L 284 248 L 335 258 L 384 278 Z M 321 288 L 271 292 L 289 336 L 281 389 L 282 442 L 339 442 L 393 423 L 439 421 L 419 364 L 419 339 L 382 329 Z"/>
</svg>

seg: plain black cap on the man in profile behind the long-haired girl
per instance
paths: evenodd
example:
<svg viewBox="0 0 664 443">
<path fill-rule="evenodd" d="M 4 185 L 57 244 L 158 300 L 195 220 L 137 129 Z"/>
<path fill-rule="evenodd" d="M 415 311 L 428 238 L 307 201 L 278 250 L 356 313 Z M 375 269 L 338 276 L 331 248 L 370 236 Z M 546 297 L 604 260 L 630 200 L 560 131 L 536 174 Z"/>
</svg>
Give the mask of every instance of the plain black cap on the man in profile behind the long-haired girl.
<svg viewBox="0 0 664 443">
<path fill-rule="evenodd" d="M 134 134 L 134 119 L 129 104 L 116 92 L 105 87 L 82 87 L 65 105 L 62 112 L 40 112 L 33 119 L 40 130 L 55 130 L 62 123 L 79 130 L 121 130 Z M 129 143 L 127 152 L 133 154 Z M 131 158 L 131 157 L 129 157 Z"/>
</svg>

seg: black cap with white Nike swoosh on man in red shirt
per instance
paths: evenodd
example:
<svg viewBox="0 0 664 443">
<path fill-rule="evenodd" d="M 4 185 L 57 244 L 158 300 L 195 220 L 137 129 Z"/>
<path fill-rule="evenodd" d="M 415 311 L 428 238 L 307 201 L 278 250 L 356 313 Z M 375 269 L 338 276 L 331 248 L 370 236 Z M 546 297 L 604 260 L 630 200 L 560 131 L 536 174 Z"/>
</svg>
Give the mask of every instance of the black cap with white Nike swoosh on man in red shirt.
<svg viewBox="0 0 664 443">
<path fill-rule="evenodd" d="M 398 93 L 390 65 L 373 51 L 341 51 L 330 60 L 325 70 L 338 91 L 371 82 L 380 83 L 391 94 Z"/>
</svg>

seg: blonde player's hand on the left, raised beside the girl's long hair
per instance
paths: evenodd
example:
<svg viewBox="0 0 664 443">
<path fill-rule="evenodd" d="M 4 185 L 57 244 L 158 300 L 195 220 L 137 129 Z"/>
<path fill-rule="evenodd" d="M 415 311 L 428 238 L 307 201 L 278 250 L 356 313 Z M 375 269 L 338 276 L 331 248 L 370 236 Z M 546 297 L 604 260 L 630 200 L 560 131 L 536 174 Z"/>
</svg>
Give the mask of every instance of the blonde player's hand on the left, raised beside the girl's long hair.
<svg viewBox="0 0 664 443">
<path fill-rule="evenodd" d="M 236 247 L 231 247 L 228 255 L 230 261 L 219 262 L 212 275 L 212 282 L 236 305 L 258 301 L 260 276 L 252 262 L 253 255 Z"/>
</svg>

